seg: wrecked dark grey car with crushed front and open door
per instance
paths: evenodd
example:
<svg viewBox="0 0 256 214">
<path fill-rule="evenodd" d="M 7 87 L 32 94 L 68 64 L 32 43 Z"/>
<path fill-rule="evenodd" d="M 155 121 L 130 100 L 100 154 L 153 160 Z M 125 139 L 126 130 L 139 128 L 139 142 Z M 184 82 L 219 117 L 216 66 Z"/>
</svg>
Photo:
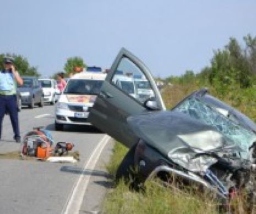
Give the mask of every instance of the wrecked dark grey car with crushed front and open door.
<svg viewBox="0 0 256 214">
<path fill-rule="evenodd" d="M 115 76 L 141 76 L 151 97 L 138 99 L 115 84 Z M 122 48 L 91 109 L 94 126 L 130 148 L 117 177 L 139 168 L 140 182 L 175 174 L 228 199 L 238 189 L 254 190 L 256 125 L 212 97 L 207 89 L 190 94 L 166 110 L 149 69 Z"/>
</svg>

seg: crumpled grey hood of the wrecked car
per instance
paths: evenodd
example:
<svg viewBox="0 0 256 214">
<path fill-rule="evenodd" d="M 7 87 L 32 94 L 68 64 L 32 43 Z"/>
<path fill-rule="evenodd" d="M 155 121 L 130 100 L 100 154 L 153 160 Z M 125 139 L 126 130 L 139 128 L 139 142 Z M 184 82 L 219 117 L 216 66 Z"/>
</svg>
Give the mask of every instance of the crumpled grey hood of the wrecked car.
<svg viewBox="0 0 256 214">
<path fill-rule="evenodd" d="M 205 172 L 217 162 L 214 156 L 243 151 L 215 127 L 178 111 L 134 115 L 127 122 L 137 137 L 189 171 Z"/>
</svg>

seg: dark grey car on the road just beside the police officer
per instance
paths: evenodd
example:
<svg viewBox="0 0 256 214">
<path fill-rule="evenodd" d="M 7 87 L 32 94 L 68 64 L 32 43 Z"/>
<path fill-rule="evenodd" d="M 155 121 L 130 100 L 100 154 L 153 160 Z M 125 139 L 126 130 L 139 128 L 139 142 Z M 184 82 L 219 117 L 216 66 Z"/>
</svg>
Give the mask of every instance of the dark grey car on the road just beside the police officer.
<svg viewBox="0 0 256 214">
<path fill-rule="evenodd" d="M 24 76 L 23 85 L 18 86 L 21 104 L 34 108 L 35 105 L 43 106 L 43 91 L 37 77 Z"/>
</svg>

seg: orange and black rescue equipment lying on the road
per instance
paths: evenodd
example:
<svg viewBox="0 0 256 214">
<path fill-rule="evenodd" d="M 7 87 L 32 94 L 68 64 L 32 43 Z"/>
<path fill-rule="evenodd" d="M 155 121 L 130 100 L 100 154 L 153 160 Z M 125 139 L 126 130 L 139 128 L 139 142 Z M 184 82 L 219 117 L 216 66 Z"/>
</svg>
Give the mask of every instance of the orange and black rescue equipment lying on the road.
<svg viewBox="0 0 256 214">
<path fill-rule="evenodd" d="M 59 142 L 52 147 L 53 144 L 51 133 L 43 127 L 36 127 L 25 135 L 21 146 L 21 156 L 33 156 L 43 160 L 54 155 L 67 155 L 68 151 L 74 148 L 72 143 Z"/>
</svg>

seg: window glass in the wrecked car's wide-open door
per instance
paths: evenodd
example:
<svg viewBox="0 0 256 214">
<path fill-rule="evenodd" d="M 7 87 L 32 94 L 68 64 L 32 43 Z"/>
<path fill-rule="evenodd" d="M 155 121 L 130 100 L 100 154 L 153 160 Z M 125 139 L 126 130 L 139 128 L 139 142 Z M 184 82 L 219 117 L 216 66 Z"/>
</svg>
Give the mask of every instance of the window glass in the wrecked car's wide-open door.
<svg viewBox="0 0 256 214">
<path fill-rule="evenodd" d="M 126 57 L 119 61 L 111 83 L 141 104 L 155 98 L 155 93 L 143 71 Z"/>
</svg>

